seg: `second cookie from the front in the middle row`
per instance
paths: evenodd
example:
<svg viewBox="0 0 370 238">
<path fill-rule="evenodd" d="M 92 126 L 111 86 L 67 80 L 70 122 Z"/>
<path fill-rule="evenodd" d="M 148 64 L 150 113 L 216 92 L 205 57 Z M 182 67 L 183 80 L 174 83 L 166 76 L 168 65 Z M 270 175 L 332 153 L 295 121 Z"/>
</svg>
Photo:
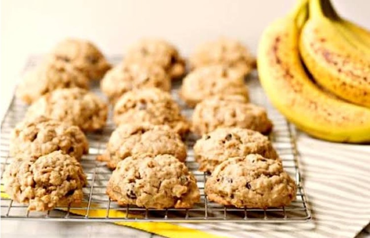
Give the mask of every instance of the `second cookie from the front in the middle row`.
<svg viewBox="0 0 370 238">
<path fill-rule="evenodd" d="M 138 153 L 171 154 L 184 162 L 186 146 L 181 137 L 166 125 L 121 124 L 111 134 L 106 152 L 98 160 L 114 169 L 117 163 Z"/>
</svg>

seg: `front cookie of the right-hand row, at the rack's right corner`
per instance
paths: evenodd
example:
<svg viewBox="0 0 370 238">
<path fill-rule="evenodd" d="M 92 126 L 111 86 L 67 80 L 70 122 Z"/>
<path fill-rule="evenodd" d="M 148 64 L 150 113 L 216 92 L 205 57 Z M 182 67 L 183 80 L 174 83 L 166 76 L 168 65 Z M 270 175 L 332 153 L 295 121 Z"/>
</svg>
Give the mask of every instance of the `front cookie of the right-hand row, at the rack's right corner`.
<svg viewBox="0 0 370 238">
<path fill-rule="evenodd" d="M 259 154 L 233 157 L 216 167 L 205 184 L 209 201 L 237 208 L 270 208 L 296 199 L 296 183 L 280 160 Z"/>
</svg>

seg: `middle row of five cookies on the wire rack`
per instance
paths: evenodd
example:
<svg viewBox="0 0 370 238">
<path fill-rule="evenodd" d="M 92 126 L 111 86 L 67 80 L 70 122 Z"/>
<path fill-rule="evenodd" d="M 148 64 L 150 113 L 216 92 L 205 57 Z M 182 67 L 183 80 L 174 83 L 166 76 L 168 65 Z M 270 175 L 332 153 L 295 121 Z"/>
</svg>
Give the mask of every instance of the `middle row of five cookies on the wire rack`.
<svg viewBox="0 0 370 238">
<path fill-rule="evenodd" d="M 97 159 L 114 169 L 107 194 L 121 206 L 191 208 L 200 201 L 184 163 L 182 139 L 190 126 L 169 93 L 184 72 L 185 61 L 171 44 L 145 39 L 101 82 L 118 127 Z"/>
</svg>

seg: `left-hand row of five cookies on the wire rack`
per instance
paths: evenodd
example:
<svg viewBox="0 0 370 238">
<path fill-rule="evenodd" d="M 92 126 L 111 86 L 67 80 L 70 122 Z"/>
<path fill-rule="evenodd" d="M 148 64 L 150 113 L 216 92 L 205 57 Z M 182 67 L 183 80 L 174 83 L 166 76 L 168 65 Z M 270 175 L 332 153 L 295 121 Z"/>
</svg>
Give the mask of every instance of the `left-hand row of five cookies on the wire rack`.
<svg viewBox="0 0 370 238">
<path fill-rule="evenodd" d="M 82 130 L 101 129 L 108 114 L 87 89 L 110 67 L 91 43 L 65 40 L 26 74 L 17 96 L 32 105 L 12 132 L 13 159 L 3 175 L 11 199 L 38 211 L 82 201 L 87 179 L 79 160 L 89 150 Z"/>
</svg>

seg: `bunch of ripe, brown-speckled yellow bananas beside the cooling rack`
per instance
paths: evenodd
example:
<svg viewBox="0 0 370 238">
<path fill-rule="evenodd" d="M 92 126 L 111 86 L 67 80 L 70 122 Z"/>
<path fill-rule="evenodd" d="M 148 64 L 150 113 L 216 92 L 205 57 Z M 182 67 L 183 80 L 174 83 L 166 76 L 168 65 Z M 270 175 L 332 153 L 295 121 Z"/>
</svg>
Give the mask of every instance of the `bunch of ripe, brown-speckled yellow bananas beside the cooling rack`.
<svg viewBox="0 0 370 238">
<path fill-rule="evenodd" d="M 330 0 L 300 0 L 259 42 L 258 71 L 270 101 L 306 133 L 370 142 L 370 32 Z"/>
</svg>

